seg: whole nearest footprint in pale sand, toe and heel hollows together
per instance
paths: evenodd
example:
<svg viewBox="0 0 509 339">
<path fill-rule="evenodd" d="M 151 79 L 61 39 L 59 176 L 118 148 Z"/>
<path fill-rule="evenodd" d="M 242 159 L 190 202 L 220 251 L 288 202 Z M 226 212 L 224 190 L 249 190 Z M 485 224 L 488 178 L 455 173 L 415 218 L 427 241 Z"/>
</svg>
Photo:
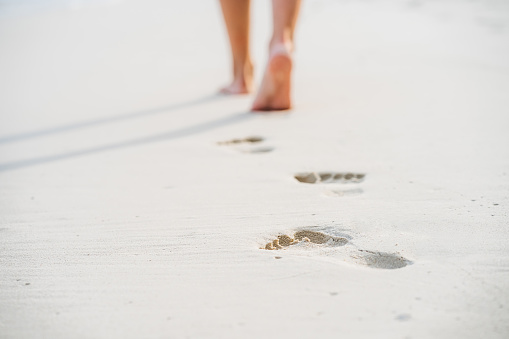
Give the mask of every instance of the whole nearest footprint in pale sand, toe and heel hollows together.
<svg viewBox="0 0 509 339">
<path fill-rule="evenodd" d="M 344 246 L 349 243 L 347 237 L 339 237 L 329 235 L 323 232 L 311 231 L 311 230 L 300 230 L 295 232 L 292 236 L 282 234 L 277 236 L 276 239 L 268 242 L 261 249 L 264 250 L 287 250 L 291 247 L 302 248 L 306 245 L 309 247 L 316 248 L 334 248 Z M 402 268 L 412 264 L 412 261 L 402 257 L 398 253 L 368 251 L 368 250 L 348 250 L 342 253 L 343 256 L 349 257 L 350 261 L 357 264 L 381 269 L 396 269 Z M 282 257 L 278 256 L 277 259 Z"/>
</svg>

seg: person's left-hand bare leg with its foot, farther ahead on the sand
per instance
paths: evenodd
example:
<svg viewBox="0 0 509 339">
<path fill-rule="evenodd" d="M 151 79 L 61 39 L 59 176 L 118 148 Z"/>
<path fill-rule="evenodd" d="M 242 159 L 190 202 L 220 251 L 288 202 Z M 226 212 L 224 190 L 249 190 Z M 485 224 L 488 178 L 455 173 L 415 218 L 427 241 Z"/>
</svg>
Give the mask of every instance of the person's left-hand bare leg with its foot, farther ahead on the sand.
<svg viewBox="0 0 509 339">
<path fill-rule="evenodd" d="M 221 89 L 225 94 L 249 93 L 253 82 L 253 64 L 249 55 L 250 0 L 220 0 L 233 60 L 233 81 Z"/>
</svg>

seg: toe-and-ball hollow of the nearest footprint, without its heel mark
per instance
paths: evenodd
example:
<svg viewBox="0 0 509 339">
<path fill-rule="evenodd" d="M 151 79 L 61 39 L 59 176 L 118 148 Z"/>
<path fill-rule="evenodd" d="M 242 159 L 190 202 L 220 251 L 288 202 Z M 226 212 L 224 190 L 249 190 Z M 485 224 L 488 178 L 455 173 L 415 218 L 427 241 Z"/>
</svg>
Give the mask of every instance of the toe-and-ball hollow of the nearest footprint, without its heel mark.
<svg viewBox="0 0 509 339">
<path fill-rule="evenodd" d="M 348 243 L 348 239 L 343 237 L 334 237 L 317 231 L 302 230 L 295 232 L 293 237 L 286 234 L 279 235 L 276 239 L 267 243 L 263 248 L 266 250 L 280 250 L 283 249 L 283 247 L 296 245 L 301 242 L 309 242 L 320 245 L 325 244 L 327 246 L 343 246 Z"/>
</svg>

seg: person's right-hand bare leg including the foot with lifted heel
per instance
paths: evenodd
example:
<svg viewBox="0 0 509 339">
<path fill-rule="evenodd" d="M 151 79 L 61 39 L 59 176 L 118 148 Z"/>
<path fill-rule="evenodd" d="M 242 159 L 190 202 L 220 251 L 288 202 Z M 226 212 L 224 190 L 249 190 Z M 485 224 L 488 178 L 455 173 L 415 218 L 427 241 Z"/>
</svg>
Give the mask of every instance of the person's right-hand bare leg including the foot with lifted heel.
<svg viewBox="0 0 509 339">
<path fill-rule="evenodd" d="M 293 33 L 301 0 L 272 0 L 274 32 L 269 46 L 269 61 L 253 111 L 285 110 L 292 106 Z"/>
</svg>

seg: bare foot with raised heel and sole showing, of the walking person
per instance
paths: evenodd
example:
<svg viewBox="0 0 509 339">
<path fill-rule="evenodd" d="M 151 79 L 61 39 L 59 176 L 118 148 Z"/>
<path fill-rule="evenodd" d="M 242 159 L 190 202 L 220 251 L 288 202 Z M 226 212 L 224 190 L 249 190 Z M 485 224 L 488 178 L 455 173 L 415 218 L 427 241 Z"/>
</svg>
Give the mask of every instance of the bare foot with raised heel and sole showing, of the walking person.
<svg viewBox="0 0 509 339">
<path fill-rule="evenodd" d="M 290 109 L 290 82 L 292 73 L 291 49 L 285 44 L 272 46 L 260 90 L 253 102 L 253 111 L 280 111 Z"/>
</svg>

